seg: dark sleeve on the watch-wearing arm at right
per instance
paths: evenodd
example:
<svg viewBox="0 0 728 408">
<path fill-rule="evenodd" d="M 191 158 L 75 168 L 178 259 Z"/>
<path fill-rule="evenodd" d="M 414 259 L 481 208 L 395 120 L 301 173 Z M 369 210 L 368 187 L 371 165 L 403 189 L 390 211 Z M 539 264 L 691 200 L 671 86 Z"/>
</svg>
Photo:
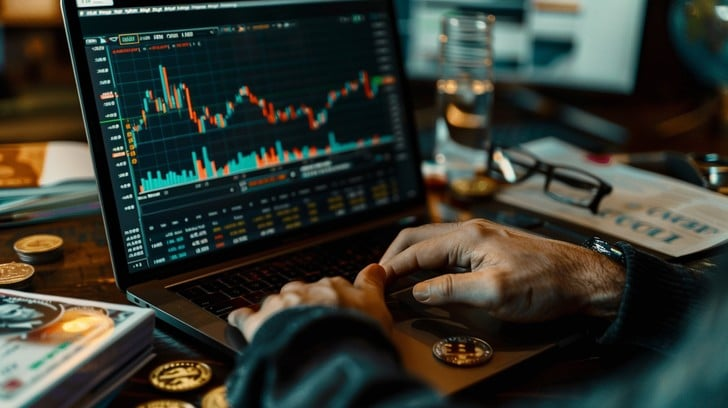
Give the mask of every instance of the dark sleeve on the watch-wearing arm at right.
<svg viewBox="0 0 728 408">
<path fill-rule="evenodd" d="M 617 243 L 625 256 L 626 283 L 616 319 L 602 335 L 604 344 L 632 344 L 665 352 L 707 292 L 704 273 L 663 261 Z"/>
</svg>

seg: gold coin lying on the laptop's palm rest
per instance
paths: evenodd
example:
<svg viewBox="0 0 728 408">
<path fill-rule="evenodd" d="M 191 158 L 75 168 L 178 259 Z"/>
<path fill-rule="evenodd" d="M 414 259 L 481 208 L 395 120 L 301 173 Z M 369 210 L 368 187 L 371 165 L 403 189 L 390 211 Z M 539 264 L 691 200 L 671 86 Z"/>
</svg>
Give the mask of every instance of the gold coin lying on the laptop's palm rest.
<svg viewBox="0 0 728 408">
<path fill-rule="evenodd" d="M 432 346 L 432 354 L 443 363 L 458 367 L 473 367 L 493 357 L 493 347 L 473 336 L 452 336 Z"/>
</svg>

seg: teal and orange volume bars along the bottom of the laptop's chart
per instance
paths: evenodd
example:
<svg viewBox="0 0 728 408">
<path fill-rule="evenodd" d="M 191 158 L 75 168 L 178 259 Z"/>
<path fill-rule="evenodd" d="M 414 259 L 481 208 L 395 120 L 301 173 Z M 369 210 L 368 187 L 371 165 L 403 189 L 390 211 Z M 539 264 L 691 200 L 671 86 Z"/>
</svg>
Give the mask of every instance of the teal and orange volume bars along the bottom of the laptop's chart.
<svg viewBox="0 0 728 408">
<path fill-rule="evenodd" d="M 261 147 L 259 151 L 243 154 L 238 152 L 234 159 L 228 160 L 219 166 L 215 160 L 209 157 L 206 147 L 201 147 L 200 156 L 192 152 L 190 157 L 190 169 L 178 172 L 160 170 L 147 171 L 141 179 L 139 193 L 148 193 L 154 190 L 176 187 L 189 183 L 226 177 L 234 174 L 246 173 L 265 167 L 276 166 L 286 163 L 294 163 L 306 159 L 335 155 L 367 147 L 392 143 L 394 137 L 391 135 L 373 135 L 368 139 L 360 139 L 355 142 L 339 143 L 333 132 L 328 134 L 328 144 L 322 147 L 302 146 L 284 149 L 280 141 L 269 148 Z"/>
</svg>

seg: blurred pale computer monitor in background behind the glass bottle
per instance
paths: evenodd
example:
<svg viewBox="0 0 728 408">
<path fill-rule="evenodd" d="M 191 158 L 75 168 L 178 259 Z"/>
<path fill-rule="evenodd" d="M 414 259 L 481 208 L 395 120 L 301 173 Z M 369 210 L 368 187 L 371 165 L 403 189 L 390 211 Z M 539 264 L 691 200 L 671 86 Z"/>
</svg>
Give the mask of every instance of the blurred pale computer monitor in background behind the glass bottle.
<svg viewBox="0 0 728 408">
<path fill-rule="evenodd" d="M 647 0 L 396 0 L 412 79 L 437 76 L 440 16 L 495 15 L 496 83 L 629 94 L 634 91 Z"/>
</svg>

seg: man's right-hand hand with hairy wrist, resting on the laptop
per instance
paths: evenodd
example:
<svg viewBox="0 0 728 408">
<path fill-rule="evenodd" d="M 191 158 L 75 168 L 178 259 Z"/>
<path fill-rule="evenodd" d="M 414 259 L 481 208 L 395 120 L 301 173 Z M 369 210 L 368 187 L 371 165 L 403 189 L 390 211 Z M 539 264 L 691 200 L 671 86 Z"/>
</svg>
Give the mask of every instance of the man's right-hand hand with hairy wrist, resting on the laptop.
<svg viewBox="0 0 728 408">
<path fill-rule="evenodd" d="M 520 322 L 612 317 L 625 282 L 624 268 L 603 255 L 483 219 L 405 229 L 380 264 L 389 281 L 418 270 L 464 269 L 418 283 L 415 299 L 471 304 Z"/>
</svg>

